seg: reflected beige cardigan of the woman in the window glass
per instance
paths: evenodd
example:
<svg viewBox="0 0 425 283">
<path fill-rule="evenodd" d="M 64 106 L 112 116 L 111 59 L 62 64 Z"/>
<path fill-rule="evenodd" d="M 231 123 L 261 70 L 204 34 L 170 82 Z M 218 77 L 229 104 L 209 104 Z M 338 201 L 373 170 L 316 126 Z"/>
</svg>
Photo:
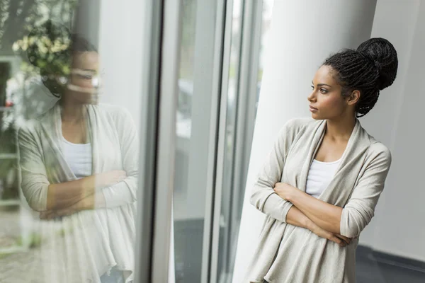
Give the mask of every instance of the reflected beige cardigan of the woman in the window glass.
<svg viewBox="0 0 425 283">
<path fill-rule="evenodd" d="M 45 282 L 100 282 L 117 265 L 125 282 L 134 279 L 138 137 L 130 113 L 113 105 L 86 105 L 93 156 L 92 173 L 124 170 L 128 177 L 104 187 L 106 207 L 39 221 L 42 244 L 35 270 Z M 47 186 L 76 180 L 62 154 L 60 106 L 29 120 L 19 130 L 21 188 L 29 206 L 43 211 Z"/>
</svg>

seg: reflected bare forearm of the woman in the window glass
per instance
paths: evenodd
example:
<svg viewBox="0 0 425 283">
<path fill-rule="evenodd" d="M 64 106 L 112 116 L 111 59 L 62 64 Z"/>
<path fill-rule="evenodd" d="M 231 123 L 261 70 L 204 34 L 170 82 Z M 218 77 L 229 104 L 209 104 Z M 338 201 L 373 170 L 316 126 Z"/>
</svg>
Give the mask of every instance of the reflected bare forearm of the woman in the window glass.
<svg viewBox="0 0 425 283">
<path fill-rule="evenodd" d="M 47 187 L 47 210 L 70 207 L 96 191 L 94 175 Z"/>
</svg>

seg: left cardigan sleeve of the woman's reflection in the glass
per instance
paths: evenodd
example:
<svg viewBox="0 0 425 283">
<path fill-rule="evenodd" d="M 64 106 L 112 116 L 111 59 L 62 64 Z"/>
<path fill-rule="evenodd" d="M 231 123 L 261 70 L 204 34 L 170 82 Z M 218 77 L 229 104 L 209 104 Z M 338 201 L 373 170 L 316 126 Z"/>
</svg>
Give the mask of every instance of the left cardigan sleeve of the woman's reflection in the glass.
<svg viewBox="0 0 425 283">
<path fill-rule="evenodd" d="M 30 125 L 18 129 L 18 166 L 21 172 L 21 190 L 29 206 L 37 212 L 47 209 L 47 180 L 42 154 L 30 131 Z"/>
</svg>

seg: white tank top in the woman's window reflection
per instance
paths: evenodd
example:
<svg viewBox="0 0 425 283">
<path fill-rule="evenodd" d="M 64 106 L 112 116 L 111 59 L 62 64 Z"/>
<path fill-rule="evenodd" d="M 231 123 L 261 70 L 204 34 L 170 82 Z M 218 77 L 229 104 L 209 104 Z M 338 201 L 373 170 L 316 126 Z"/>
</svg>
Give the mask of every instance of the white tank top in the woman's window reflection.
<svg viewBox="0 0 425 283">
<path fill-rule="evenodd" d="M 91 144 L 73 144 L 62 137 L 65 161 L 78 178 L 91 175 Z"/>
</svg>

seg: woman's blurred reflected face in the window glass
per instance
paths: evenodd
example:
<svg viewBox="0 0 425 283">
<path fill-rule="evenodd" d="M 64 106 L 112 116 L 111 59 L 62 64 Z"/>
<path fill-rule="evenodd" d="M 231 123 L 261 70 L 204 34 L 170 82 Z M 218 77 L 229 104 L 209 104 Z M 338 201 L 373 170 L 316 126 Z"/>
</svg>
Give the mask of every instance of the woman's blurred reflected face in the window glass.
<svg viewBox="0 0 425 283">
<path fill-rule="evenodd" d="M 71 96 L 75 103 L 96 104 L 98 101 L 98 69 L 97 52 L 74 54 L 66 95 Z"/>
</svg>

